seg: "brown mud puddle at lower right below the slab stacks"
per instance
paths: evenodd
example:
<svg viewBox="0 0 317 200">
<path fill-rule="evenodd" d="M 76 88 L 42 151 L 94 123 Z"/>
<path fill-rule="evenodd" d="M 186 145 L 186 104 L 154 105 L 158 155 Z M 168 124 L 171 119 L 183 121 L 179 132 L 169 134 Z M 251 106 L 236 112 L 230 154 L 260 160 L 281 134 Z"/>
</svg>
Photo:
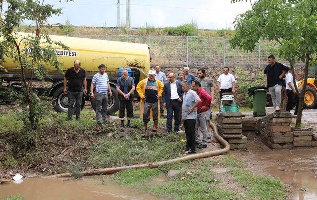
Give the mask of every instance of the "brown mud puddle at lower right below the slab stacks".
<svg viewBox="0 0 317 200">
<path fill-rule="evenodd" d="M 249 152 L 233 152 L 250 170 L 278 176 L 290 188 L 288 199 L 317 199 L 317 150 L 262 151 L 249 148 Z"/>
</svg>

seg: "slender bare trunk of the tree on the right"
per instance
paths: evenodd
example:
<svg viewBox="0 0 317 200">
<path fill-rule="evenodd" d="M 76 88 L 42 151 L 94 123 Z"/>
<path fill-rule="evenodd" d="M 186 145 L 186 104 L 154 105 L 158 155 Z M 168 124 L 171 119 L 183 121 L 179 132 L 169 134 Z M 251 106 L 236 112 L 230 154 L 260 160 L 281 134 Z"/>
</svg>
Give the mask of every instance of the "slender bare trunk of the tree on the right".
<svg viewBox="0 0 317 200">
<path fill-rule="evenodd" d="M 304 107 L 304 95 L 305 95 L 305 90 L 306 90 L 306 85 L 307 85 L 307 77 L 308 77 L 309 60 L 310 60 L 309 53 L 306 53 L 306 55 L 305 55 L 305 69 L 304 69 L 304 84 L 303 84 L 302 92 L 299 96 L 298 112 L 297 112 L 295 127 L 301 127 L 302 113 L 303 113 L 303 107 Z"/>
</svg>

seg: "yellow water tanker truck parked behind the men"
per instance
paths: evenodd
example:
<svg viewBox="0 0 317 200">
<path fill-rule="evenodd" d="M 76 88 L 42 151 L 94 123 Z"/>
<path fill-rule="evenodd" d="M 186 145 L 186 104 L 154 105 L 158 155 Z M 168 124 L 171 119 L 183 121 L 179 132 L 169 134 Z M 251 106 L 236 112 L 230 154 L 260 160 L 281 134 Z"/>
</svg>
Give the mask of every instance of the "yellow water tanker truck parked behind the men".
<svg viewBox="0 0 317 200">
<path fill-rule="evenodd" d="M 21 35 L 27 35 L 29 33 L 18 33 Z M 137 85 L 138 82 L 146 78 L 146 74 L 150 69 L 150 48 L 146 44 L 97 40 L 78 37 L 66 37 L 66 36 L 49 36 L 53 41 L 61 41 L 69 47 L 69 50 L 56 49 L 55 54 L 58 56 L 58 60 L 63 63 L 61 69 L 66 72 L 70 67 L 73 67 L 75 60 L 81 62 L 81 67 L 86 71 L 87 79 L 87 94 L 90 93 L 90 84 L 93 75 L 98 73 L 98 66 L 100 64 L 106 65 L 106 72 L 109 76 L 111 90 L 113 97 L 109 97 L 108 113 L 114 113 L 118 110 L 119 100 L 116 92 L 116 82 L 119 78 L 119 69 L 130 68 L 129 73 Z M 25 47 L 26 51 L 30 51 Z M 20 81 L 21 73 L 20 69 L 17 69 L 17 64 L 12 59 L 7 59 L 5 63 L 2 63 L 1 75 L 8 85 L 10 83 L 16 84 L 16 81 Z M 58 112 L 67 111 L 68 97 L 63 93 L 63 78 L 64 74 L 58 72 L 53 66 L 46 66 L 49 77 L 47 80 L 53 83 L 49 89 L 48 96 L 56 99 L 53 104 L 54 108 Z M 31 80 L 32 73 L 27 71 L 26 77 Z M 33 75 L 33 79 L 35 79 Z M 82 107 L 85 105 L 85 101 L 90 101 L 89 95 L 83 95 Z M 93 105 L 95 109 L 95 105 Z"/>
</svg>

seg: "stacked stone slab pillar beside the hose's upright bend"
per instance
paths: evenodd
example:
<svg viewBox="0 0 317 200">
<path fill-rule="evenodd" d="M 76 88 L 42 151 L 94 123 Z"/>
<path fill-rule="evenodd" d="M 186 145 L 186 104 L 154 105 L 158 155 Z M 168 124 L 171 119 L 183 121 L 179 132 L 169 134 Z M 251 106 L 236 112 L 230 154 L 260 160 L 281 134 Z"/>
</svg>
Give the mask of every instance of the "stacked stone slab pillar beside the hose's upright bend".
<svg viewBox="0 0 317 200">
<path fill-rule="evenodd" d="M 230 149 L 246 149 L 247 137 L 242 135 L 242 119 L 239 112 L 224 112 L 217 117 L 220 136 L 230 144 Z"/>
</svg>

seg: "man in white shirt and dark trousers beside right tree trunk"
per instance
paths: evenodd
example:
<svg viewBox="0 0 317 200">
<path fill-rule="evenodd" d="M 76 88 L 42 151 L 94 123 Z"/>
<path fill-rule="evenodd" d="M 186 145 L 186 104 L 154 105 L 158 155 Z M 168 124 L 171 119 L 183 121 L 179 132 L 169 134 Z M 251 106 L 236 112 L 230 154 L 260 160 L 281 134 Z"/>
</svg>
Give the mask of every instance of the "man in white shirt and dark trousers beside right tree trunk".
<svg viewBox="0 0 317 200">
<path fill-rule="evenodd" d="M 291 111 L 292 108 L 294 108 L 294 106 L 296 105 L 294 115 L 297 115 L 298 95 L 294 87 L 293 74 L 291 70 L 289 70 L 288 74 L 286 75 L 285 83 L 286 83 L 286 95 L 287 95 L 286 110 Z"/>
</svg>

